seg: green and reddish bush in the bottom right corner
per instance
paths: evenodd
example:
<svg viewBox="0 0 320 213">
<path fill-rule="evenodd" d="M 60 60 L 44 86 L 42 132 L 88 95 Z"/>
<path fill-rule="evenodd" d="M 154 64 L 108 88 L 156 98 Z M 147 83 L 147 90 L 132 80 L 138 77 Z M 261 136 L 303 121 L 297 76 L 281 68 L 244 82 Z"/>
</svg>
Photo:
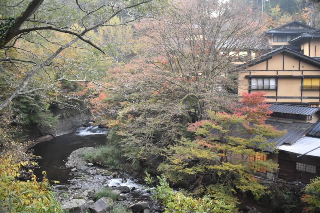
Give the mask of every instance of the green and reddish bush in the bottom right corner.
<svg viewBox="0 0 320 213">
<path fill-rule="evenodd" d="M 320 177 L 311 180 L 305 188 L 305 195 L 301 197 L 301 201 L 308 205 L 304 208 L 305 212 L 320 211 Z"/>
</svg>

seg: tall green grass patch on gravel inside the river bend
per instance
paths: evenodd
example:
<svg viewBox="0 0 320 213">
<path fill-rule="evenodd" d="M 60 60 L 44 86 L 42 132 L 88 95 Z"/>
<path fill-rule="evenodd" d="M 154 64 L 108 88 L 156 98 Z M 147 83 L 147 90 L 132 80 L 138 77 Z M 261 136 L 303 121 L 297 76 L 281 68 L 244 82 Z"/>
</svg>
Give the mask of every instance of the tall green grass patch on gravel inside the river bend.
<svg viewBox="0 0 320 213">
<path fill-rule="evenodd" d="M 107 166 L 112 169 L 121 169 L 121 151 L 116 146 L 99 146 L 91 151 L 80 154 L 87 162 Z"/>
</svg>

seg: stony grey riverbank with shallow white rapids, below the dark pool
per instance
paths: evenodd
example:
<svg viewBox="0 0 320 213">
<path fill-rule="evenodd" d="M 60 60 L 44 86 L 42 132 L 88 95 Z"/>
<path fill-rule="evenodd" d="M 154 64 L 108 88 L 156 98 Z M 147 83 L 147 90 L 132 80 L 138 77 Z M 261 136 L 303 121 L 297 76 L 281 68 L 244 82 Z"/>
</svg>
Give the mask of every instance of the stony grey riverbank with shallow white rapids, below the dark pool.
<svg viewBox="0 0 320 213">
<path fill-rule="evenodd" d="M 81 199 L 88 206 L 93 205 L 94 195 L 110 189 L 117 194 L 115 206 L 140 209 L 143 212 L 163 212 L 164 206 L 151 200 L 147 186 L 141 184 L 139 178 L 121 171 L 109 170 L 102 166 L 87 163 L 80 154 L 91 151 L 92 147 L 76 149 L 69 156 L 65 168 L 70 169 L 68 183 L 52 186 L 57 193 L 60 203 L 69 203 L 74 199 Z"/>
</svg>

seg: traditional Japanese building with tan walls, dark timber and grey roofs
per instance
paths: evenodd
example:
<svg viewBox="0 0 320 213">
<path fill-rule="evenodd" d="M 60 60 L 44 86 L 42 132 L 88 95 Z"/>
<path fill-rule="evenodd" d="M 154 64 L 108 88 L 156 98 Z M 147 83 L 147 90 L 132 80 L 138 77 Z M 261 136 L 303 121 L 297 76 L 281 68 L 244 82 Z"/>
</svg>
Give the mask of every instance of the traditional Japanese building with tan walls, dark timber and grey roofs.
<svg viewBox="0 0 320 213">
<path fill-rule="evenodd" d="M 265 35 L 272 50 L 240 65 L 238 95 L 264 92 L 273 111 L 266 123 L 287 132 L 269 140 L 278 154 L 270 148 L 250 160 L 279 164 L 260 176 L 308 183 L 320 175 L 320 30 L 293 20 Z"/>
</svg>

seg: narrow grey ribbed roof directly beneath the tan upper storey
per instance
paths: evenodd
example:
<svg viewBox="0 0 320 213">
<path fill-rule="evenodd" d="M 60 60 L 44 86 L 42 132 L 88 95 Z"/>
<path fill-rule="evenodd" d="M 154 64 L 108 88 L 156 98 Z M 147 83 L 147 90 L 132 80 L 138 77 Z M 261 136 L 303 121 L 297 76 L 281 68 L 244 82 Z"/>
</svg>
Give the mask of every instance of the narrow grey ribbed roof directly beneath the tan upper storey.
<svg viewBox="0 0 320 213">
<path fill-rule="evenodd" d="M 271 104 L 269 109 L 277 113 L 312 115 L 320 110 L 319 107 L 290 105 L 290 104 Z"/>
</svg>

